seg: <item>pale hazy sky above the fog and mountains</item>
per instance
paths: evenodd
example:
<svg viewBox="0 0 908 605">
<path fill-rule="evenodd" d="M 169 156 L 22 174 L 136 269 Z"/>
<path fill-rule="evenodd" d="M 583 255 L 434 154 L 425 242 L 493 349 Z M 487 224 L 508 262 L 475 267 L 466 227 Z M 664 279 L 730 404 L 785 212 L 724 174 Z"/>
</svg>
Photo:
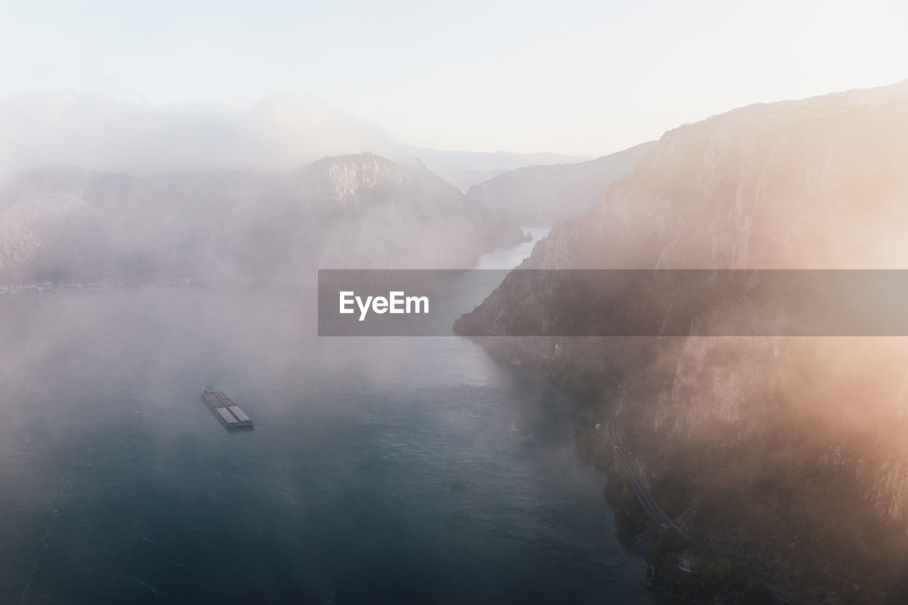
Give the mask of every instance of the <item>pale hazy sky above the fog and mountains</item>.
<svg viewBox="0 0 908 605">
<path fill-rule="evenodd" d="M 0 0 L 0 99 L 337 106 L 403 143 L 605 154 L 908 78 L 908 3 Z"/>
</svg>

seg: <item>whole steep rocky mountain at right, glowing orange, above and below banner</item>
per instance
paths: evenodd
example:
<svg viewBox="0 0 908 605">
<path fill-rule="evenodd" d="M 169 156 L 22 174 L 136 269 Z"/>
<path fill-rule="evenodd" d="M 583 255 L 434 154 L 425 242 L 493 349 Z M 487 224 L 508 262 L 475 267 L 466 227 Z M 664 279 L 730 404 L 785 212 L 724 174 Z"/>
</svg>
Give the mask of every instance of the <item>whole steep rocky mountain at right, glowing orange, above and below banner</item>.
<svg viewBox="0 0 908 605">
<path fill-rule="evenodd" d="M 666 133 L 522 268 L 904 269 L 906 223 L 903 83 L 754 105 Z M 519 312 L 536 312 L 540 326 L 553 321 L 563 274 L 528 280 L 538 273 L 511 273 L 460 329 L 508 333 L 516 312 L 508 300 L 521 295 Z M 623 308 L 635 303 L 613 295 Z M 775 577 L 804 602 L 908 598 L 903 339 L 542 338 L 489 347 L 589 394 L 590 425 L 620 412 L 656 501 L 714 552 Z M 581 434 L 594 450 L 603 439 L 591 426 Z M 607 448 L 597 451 L 609 461 Z"/>
</svg>

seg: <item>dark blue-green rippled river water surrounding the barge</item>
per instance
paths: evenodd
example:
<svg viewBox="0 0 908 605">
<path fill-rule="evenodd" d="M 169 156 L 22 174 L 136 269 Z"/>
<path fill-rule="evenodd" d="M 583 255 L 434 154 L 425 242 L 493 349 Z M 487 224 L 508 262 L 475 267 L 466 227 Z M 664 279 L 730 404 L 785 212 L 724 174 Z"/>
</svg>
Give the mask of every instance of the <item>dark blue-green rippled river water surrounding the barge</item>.
<svg viewBox="0 0 908 605">
<path fill-rule="evenodd" d="M 0 602 L 656 602 L 575 402 L 464 339 L 318 339 L 309 305 L 0 300 Z"/>
</svg>

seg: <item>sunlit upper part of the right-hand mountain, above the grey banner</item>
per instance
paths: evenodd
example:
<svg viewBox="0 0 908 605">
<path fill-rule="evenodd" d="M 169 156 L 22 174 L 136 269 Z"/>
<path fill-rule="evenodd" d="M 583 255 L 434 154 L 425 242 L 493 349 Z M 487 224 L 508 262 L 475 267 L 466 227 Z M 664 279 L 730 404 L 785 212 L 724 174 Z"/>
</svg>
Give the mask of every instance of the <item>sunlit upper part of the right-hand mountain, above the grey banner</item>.
<svg viewBox="0 0 908 605">
<path fill-rule="evenodd" d="M 577 267 L 905 268 L 906 132 L 908 84 L 681 126 L 537 262 L 551 247 Z"/>
</svg>

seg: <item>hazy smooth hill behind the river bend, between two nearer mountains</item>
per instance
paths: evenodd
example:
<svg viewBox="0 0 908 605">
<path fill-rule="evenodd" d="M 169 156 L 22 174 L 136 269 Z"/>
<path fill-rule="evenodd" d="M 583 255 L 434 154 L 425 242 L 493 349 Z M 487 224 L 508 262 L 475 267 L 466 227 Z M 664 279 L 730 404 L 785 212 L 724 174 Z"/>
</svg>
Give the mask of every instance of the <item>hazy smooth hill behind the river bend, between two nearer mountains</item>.
<svg viewBox="0 0 908 605">
<path fill-rule="evenodd" d="M 469 188 L 470 198 L 518 224 L 554 224 L 577 218 L 605 188 L 629 173 L 655 143 L 576 164 L 535 165 L 500 174 Z"/>
</svg>

